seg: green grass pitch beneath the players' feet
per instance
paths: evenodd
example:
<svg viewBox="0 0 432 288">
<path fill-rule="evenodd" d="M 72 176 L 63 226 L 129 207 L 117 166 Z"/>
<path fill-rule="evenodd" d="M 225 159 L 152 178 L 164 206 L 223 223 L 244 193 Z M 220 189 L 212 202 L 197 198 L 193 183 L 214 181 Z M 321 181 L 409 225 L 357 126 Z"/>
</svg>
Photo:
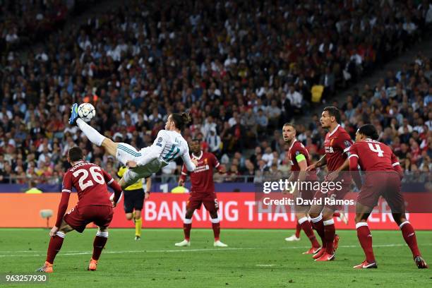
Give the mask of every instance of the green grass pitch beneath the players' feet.
<svg viewBox="0 0 432 288">
<path fill-rule="evenodd" d="M 45 260 L 47 229 L 0 229 L 0 274 L 34 272 Z M 48 284 L 21 287 L 431 287 L 432 269 L 419 270 L 399 231 L 372 231 L 378 269 L 354 270 L 364 260 L 356 232 L 339 231 L 336 260 L 314 263 L 302 255 L 309 243 L 288 243 L 287 230 L 222 229 L 228 248 L 212 246 L 211 229 L 192 229 L 191 247 L 174 243 L 181 229 L 110 229 L 95 272 L 86 270 L 95 229 L 71 232 Z M 426 261 L 432 261 L 432 232 L 416 232 Z M 3 285 L 2 285 L 3 286 Z M 8 284 L 5 287 L 17 287 Z"/>
</svg>

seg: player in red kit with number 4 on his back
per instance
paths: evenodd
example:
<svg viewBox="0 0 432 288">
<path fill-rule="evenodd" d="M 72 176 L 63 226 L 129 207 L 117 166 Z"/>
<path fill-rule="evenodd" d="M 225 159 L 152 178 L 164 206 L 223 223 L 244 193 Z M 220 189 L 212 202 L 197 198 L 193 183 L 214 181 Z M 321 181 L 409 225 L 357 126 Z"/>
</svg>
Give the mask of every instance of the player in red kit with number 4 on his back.
<svg viewBox="0 0 432 288">
<path fill-rule="evenodd" d="M 414 228 L 405 216 L 404 198 L 400 191 L 403 172 L 399 161 L 387 145 L 376 139 L 378 139 L 376 128 L 366 124 L 359 128 L 356 133 L 356 143 L 349 148 L 349 170 L 357 171 L 357 165 L 360 165 L 361 171 L 366 172 L 363 185 L 359 177 L 354 177 L 357 186 L 361 189 L 356 203 L 357 237 L 366 255 L 366 260 L 354 268 L 377 268 L 367 220 L 378 204 L 380 196 L 385 198 L 390 206 L 393 219 L 399 225 L 417 267 L 428 268 L 421 258 Z"/>
</svg>

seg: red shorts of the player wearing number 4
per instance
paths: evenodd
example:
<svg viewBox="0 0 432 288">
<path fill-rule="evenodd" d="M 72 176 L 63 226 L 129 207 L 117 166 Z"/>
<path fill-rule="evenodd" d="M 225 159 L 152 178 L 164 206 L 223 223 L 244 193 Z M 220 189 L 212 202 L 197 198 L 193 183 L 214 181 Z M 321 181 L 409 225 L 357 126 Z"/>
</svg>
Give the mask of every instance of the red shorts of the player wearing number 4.
<svg viewBox="0 0 432 288">
<path fill-rule="evenodd" d="M 357 202 L 369 208 L 378 205 L 380 196 L 387 201 L 393 213 L 404 213 L 405 204 L 401 193 L 400 176 L 395 173 L 380 173 L 368 175 Z"/>
</svg>

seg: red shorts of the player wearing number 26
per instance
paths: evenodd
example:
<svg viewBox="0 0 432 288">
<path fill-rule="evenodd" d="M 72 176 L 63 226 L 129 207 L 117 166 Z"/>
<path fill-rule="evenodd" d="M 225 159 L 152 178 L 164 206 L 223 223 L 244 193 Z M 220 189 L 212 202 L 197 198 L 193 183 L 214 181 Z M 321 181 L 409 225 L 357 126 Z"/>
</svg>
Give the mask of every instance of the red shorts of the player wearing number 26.
<svg viewBox="0 0 432 288">
<path fill-rule="evenodd" d="M 111 206 L 89 205 L 84 207 L 75 206 L 64 215 L 63 219 L 73 229 L 82 233 L 87 224 L 93 222 L 99 227 L 108 227 L 114 215 Z"/>
</svg>

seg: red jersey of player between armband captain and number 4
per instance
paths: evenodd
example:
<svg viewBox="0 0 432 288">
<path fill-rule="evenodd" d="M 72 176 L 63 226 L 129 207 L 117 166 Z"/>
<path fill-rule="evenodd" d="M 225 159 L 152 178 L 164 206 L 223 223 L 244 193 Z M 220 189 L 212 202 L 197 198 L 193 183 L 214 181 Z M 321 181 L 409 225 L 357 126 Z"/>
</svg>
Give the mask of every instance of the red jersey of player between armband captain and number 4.
<svg viewBox="0 0 432 288">
<path fill-rule="evenodd" d="M 335 131 L 327 133 L 325 136 L 324 147 L 325 157 L 327 158 L 327 169 L 329 172 L 335 171 L 347 159 L 349 146 L 352 140 L 347 131 L 337 125 Z"/>
</svg>

